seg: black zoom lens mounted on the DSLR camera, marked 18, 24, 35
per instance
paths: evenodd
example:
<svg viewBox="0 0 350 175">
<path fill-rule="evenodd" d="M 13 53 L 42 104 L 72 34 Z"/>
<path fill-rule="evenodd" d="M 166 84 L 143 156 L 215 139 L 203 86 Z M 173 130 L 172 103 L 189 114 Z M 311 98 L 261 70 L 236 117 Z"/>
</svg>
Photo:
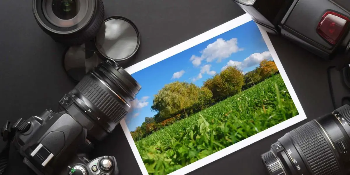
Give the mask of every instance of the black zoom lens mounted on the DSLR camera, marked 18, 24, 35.
<svg viewBox="0 0 350 175">
<path fill-rule="evenodd" d="M 88 135 L 102 140 L 126 116 L 140 89 L 129 73 L 107 60 L 87 73 L 59 104 L 90 131 Z"/>
</svg>

